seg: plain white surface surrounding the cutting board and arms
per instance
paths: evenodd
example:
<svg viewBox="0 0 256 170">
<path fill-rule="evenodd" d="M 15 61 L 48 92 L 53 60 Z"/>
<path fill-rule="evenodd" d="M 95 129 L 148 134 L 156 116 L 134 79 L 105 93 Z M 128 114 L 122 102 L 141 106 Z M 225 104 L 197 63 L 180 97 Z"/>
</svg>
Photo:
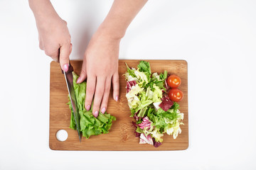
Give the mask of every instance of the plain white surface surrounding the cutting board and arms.
<svg viewBox="0 0 256 170">
<path fill-rule="evenodd" d="M 112 1 L 55 0 L 72 60 Z M 172 152 L 65 152 L 48 147 L 50 57 L 27 1 L 0 1 L 0 169 L 256 169 L 256 1 L 149 1 L 120 59 L 188 62 L 189 147 Z M 113 144 L 114 145 L 114 144 Z"/>
</svg>

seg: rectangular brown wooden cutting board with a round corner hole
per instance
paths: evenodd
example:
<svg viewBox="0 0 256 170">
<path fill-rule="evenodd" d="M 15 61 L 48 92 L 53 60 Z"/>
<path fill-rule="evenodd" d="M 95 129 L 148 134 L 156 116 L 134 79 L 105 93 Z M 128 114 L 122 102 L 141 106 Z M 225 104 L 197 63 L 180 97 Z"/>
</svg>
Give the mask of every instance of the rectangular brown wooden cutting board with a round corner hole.
<svg viewBox="0 0 256 170">
<path fill-rule="evenodd" d="M 129 67 L 137 68 L 139 60 L 119 60 L 119 101 L 116 102 L 110 93 L 107 113 L 114 115 L 117 120 L 113 122 L 110 132 L 105 135 L 92 136 L 90 139 L 82 137 L 82 142 L 78 140 L 78 132 L 69 128 L 70 109 L 68 108 L 68 89 L 65 84 L 64 75 L 60 72 L 60 66 L 56 62 L 50 63 L 50 137 L 49 146 L 53 150 L 182 150 L 188 148 L 188 72 L 187 62 L 184 60 L 147 60 L 151 65 L 151 72 L 164 72 L 176 74 L 181 77 L 183 100 L 179 102 L 180 111 L 184 113 L 181 125 L 182 133 L 176 140 L 165 134 L 164 142 L 160 147 L 144 144 L 139 145 L 139 138 L 134 135 L 132 118 L 129 117 L 130 111 L 127 105 L 126 81 L 122 74 L 127 70 L 124 62 Z M 71 61 L 74 70 L 80 74 L 82 61 Z M 58 130 L 66 130 L 68 139 L 60 142 L 56 138 Z"/>
</svg>

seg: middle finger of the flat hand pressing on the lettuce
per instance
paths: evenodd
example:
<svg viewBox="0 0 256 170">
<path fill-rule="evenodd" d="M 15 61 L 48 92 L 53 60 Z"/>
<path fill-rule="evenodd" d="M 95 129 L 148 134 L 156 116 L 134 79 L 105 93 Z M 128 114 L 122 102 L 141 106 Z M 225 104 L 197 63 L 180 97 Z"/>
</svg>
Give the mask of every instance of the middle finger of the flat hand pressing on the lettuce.
<svg viewBox="0 0 256 170">
<path fill-rule="evenodd" d="M 93 101 L 93 108 L 92 108 L 92 115 L 97 118 L 99 115 L 99 110 L 100 110 L 100 103 L 102 101 L 102 96 L 105 91 L 105 77 L 97 77 L 97 84 L 96 84 L 96 89 L 95 89 L 95 98 Z"/>
</svg>

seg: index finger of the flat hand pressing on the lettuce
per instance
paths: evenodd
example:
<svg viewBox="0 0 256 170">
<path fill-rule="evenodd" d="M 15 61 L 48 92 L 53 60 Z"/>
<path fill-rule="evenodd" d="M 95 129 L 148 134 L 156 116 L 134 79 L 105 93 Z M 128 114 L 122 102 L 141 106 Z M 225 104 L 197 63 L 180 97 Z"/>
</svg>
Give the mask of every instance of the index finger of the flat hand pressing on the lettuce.
<svg viewBox="0 0 256 170">
<path fill-rule="evenodd" d="M 96 84 L 95 76 L 90 75 L 90 77 L 87 77 L 86 96 L 85 96 L 85 108 L 87 111 L 90 111 L 90 106 L 92 105 L 92 98 L 95 93 L 95 84 Z"/>
</svg>

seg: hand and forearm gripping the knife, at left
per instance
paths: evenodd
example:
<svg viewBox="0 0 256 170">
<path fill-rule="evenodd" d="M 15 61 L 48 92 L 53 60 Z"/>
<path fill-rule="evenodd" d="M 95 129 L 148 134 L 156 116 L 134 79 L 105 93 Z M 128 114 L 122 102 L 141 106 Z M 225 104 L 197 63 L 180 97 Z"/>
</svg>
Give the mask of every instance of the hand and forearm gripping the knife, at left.
<svg viewBox="0 0 256 170">
<path fill-rule="evenodd" d="M 50 1 L 42 3 L 38 8 L 39 4 L 34 5 L 33 1 L 30 2 L 36 18 L 39 47 L 55 62 L 60 62 L 61 69 L 66 72 L 72 50 L 67 22 L 58 16 Z"/>
</svg>

